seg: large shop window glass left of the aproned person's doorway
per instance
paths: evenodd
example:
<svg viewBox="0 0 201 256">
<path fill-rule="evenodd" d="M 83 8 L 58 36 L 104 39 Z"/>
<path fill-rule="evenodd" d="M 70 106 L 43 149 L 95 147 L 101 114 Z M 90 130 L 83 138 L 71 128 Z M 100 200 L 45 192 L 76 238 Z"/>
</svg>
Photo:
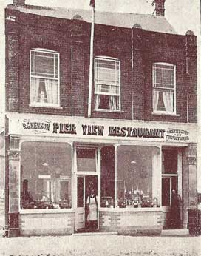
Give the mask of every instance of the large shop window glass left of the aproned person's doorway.
<svg viewBox="0 0 201 256">
<path fill-rule="evenodd" d="M 21 209 L 71 208 L 71 146 L 30 142 L 21 145 Z"/>
</svg>

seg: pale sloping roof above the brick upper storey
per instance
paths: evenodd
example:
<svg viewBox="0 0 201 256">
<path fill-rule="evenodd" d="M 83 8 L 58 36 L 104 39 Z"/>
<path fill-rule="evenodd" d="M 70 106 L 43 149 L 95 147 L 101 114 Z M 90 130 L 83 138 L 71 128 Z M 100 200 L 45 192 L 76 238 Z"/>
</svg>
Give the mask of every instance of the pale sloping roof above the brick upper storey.
<svg viewBox="0 0 201 256">
<path fill-rule="evenodd" d="M 66 9 L 61 7 L 38 7 L 33 5 L 14 7 L 12 4 L 8 5 L 8 7 L 15 8 L 24 13 L 33 13 L 41 16 L 50 16 L 55 18 L 72 19 L 74 16 L 81 16 L 86 22 L 91 22 L 92 18 L 91 10 Z M 168 23 L 165 17 L 154 16 L 150 14 L 110 13 L 95 11 L 95 23 L 126 28 L 132 28 L 134 24 L 140 24 L 144 30 L 161 33 L 176 33 L 174 28 L 171 26 L 171 24 Z"/>
</svg>

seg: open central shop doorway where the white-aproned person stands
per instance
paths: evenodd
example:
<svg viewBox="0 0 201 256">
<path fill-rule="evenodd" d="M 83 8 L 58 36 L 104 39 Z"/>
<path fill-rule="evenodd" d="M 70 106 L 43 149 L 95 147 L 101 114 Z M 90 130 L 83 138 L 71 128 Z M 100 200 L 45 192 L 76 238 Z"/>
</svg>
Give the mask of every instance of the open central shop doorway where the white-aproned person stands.
<svg viewBox="0 0 201 256">
<path fill-rule="evenodd" d="M 91 192 L 94 193 L 94 197 L 89 199 Z M 94 207 L 92 207 L 92 204 L 94 204 Z M 77 207 L 75 210 L 75 230 L 77 232 L 94 232 L 97 229 L 98 229 L 98 176 L 97 175 L 78 175 L 77 176 Z"/>
</svg>

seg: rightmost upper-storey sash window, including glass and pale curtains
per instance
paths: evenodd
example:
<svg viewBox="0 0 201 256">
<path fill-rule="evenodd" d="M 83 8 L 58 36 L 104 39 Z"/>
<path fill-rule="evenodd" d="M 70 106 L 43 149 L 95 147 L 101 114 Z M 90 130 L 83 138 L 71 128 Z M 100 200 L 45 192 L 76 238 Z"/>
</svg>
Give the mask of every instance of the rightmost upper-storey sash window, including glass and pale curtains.
<svg viewBox="0 0 201 256">
<path fill-rule="evenodd" d="M 172 64 L 153 64 L 153 110 L 154 113 L 176 112 L 176 67 Z"/>
</svg>

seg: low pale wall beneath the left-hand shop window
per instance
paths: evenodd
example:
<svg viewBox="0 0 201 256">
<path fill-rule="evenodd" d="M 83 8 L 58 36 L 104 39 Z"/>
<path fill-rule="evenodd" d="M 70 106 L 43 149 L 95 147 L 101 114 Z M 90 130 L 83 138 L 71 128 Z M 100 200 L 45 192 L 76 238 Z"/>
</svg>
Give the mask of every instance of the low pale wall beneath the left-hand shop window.
<svg viewBox="0 0 201 256">
<path fill-rule="evenodd" d="M 75 212 L 35 212 L 19 215 L 20 235 L 71 235 Z"/>
</svg>

